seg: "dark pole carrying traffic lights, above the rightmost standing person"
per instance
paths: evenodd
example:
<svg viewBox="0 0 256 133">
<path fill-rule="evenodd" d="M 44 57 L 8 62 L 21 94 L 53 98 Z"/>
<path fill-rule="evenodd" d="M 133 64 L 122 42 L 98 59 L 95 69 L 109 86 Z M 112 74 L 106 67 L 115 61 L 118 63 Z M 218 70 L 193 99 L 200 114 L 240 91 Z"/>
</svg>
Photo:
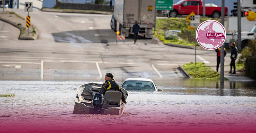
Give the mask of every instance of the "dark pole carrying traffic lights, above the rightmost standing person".
<svg viewBox="0 0 256 133">
<path fill-rule="evenodd" d="M 241 41 L 241 2 L 237 0 L 237 37 L 238 37 L 238 50 L 242 50 L 242 41 Z"/>
</svg>

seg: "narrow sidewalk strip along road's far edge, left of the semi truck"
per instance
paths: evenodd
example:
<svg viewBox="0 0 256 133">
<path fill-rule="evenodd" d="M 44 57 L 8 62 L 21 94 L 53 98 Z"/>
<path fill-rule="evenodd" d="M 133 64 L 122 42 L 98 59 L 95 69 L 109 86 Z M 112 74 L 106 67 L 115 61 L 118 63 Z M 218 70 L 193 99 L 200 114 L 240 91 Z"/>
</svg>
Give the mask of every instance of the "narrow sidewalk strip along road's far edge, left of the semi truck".
<svg viewBox="0 0 256 133">
<path fill-rule="evenodd" d="M 113 12 L 95 11 L 95 10 L 76 10 L 76 9 L 54 9 L 54 8 L 42 8 L 44 12 L 59 12 L 59 13 L 89 13 L 89 14 L 107 14 L 111 15 Z"/>
</svg>

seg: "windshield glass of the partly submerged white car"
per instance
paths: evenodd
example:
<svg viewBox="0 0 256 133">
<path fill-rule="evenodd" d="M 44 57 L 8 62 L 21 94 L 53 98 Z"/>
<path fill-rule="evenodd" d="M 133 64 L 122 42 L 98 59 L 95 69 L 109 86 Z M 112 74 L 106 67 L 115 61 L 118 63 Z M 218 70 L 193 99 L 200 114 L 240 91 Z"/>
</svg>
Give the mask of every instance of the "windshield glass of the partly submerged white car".
<svg viewBox="0 0 256 133">
<path fill-rule="evenodd" d="M 155 91 L 153 83 L 148 81 L 125 81 L 122 88 L 126 90 Z"/>
</svg>

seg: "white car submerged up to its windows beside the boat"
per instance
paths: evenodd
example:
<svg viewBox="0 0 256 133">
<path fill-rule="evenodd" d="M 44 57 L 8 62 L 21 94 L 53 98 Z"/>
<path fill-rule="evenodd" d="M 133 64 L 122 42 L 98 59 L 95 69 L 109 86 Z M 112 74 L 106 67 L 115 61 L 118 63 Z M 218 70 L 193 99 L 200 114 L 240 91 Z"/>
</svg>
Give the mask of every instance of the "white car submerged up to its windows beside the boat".
<svg viewBox="0 0 256 133">
<path fill-rule="evenodd" d="M 125 90 L 162 91 L 156 88 L 152 79 L 148 78 L 127 78 L 121 87 Z"/>
</svg>

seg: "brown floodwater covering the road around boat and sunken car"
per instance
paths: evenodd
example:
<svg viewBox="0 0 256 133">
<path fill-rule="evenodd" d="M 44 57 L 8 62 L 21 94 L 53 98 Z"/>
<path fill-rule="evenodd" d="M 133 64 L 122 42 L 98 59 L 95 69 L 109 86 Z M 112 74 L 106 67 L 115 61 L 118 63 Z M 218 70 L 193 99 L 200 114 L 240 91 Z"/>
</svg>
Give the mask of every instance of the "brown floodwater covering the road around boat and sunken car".
<svg viewBox="0 0 256 133">
<path fill-rule="evenodd" d="M 86 81 L 0 81 L 0 132 L 255 132 L 255 82 L 155 79 L 158 92 L 130 91 L 123 115 L 74 115 Z M 119 84 L 121 84 L 119 82 Z"/>
</svg>

